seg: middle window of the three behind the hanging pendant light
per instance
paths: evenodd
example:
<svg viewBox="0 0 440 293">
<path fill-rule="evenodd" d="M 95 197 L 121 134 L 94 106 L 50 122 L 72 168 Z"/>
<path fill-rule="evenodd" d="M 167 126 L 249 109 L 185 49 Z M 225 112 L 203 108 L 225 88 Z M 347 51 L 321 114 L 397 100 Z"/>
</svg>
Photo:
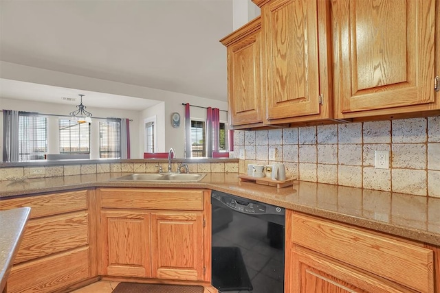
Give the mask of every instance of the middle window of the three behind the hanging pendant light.
<svg viewBox="0 0 440 293">
<path fill-rule="evenodd" d="M 90 124 L 59 119 L 60 154 L 90 153 Z"/>
</svg>

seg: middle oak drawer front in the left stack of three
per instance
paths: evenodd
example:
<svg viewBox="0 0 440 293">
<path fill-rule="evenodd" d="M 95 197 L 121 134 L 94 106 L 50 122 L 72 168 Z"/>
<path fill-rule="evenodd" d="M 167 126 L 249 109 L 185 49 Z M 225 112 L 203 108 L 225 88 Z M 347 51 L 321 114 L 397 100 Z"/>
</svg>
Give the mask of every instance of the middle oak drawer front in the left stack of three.
<svg viewBox="0 0 440 293">
<path fill-rule="evenodd" d="M 14 263 L 88 244 L 87 213 L 30 220 Z"/>
</svg>

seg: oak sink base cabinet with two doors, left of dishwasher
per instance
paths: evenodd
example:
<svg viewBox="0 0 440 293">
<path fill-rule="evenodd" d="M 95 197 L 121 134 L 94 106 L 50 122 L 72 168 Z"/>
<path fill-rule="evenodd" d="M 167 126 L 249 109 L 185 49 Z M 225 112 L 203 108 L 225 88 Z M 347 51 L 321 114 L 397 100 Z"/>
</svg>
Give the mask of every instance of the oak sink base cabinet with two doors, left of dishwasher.
<svg viewBox="0 0 440 293">
<path fill-rule="evenodd" d="M 100 274 L 210 281 L 210 191 L 100 188 Z"/>
</svg>

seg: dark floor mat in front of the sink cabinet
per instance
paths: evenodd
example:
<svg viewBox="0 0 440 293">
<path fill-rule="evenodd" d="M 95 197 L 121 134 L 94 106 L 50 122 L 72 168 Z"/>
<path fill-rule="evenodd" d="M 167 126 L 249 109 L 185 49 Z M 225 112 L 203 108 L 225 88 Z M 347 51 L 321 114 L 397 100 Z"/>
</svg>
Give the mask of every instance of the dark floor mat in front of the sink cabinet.
<svg viewBox="0 0 440 293">
<path fill-rule="evenodd" d="M 112 293 L 203 293 L 202 286 L 119 283 Z"/>
</svg>

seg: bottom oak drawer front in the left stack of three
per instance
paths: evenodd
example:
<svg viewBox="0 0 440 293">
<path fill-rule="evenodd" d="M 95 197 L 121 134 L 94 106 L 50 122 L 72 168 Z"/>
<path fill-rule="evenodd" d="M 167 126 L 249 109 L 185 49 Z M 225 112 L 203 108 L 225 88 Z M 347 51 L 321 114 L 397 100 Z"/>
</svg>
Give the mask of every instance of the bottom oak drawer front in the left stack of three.
<svg viewBox="0 0 440 293">
<path fill-rule="evenodd" d="M 89 248 L 78 248 L 14 266 L 8 278 L 8 293 L 54 292 L 89 277 Z"/>
</svg>

